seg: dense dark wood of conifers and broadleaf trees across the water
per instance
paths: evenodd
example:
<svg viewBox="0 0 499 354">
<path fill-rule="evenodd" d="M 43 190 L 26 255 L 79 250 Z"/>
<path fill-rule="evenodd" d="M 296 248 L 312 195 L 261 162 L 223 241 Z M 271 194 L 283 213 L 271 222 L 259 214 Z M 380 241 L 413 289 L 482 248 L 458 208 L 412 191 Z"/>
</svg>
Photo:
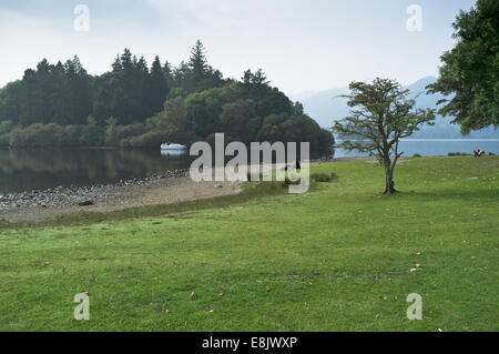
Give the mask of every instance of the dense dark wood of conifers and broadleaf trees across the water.
<svg viewBox="0 0 499 354">
<path fill-rule="evenodd" d="M 177 68 L 159 57 L 149 68 L 128 49 L 98 77 L 78 57 L 57 64 L 43 59 L 0 90 L 0 145 L 156 148 L 212 141 L 215 132 L 246 143 L 309 141 L 312 151 L 334 142 L 268 83 L 262 70 L 224 79 L 200 41 Z"/>
</svg>

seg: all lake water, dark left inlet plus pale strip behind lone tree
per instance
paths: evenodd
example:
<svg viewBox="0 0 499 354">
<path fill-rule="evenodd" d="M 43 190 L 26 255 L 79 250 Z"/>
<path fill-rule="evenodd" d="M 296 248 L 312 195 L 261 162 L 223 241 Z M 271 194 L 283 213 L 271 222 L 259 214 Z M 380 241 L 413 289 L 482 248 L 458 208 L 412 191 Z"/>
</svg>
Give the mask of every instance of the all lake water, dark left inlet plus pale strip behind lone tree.
<svg viewBox="0 0 499 354">
<path fill-rule="evenodd" d="M 497 140 L 407 140 L 405 155 L 471 153 L 475 149 L 499 154 Z M 358 156 L 336 149 L 335 158 Z M 90 185 L 144 178 L 169 170 L 187 169 L 195 158 L 162 155 L 159 149 L 0 149 L 0 194 L 58 185 Z"/>
</svg>

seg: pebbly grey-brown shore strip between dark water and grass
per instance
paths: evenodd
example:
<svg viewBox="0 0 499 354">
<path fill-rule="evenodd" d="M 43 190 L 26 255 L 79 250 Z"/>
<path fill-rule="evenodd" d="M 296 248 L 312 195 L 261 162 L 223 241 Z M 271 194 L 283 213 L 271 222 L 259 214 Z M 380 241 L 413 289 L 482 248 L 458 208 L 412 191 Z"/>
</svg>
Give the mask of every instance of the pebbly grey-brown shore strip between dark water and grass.
<svg viewBox="0 0 499 354">
<path fill-rule="evenodd" d="M 57 186 L 0 196 L 0 220 L 41 221 L 61 213 L 110 212 L 238 193 L 241 183 L 193 182 L 187 170 L 114 184 Z"/>
</svg>

